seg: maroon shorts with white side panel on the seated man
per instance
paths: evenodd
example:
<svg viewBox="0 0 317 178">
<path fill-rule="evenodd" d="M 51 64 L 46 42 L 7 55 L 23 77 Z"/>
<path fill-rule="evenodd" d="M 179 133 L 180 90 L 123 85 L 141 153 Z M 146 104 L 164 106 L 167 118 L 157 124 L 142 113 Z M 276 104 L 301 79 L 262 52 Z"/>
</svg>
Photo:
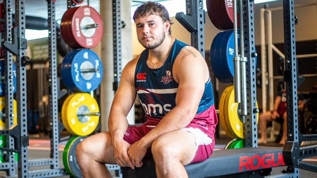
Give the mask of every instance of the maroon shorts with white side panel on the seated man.
<svg viewBox="0 0 317 178">
<path fill-rule="evenodd" d="M 193 126 L 193 127 L 191 127 Z M 124 134 L 123 140 L 128 142 L 129 144 L 133 144 L 139 141 L 144 135 L 150 132 L 155 126 L 151 125 L 137 125 L 137 126 L 129 126 L 127 131 Z M 196 155 L 191 163 L 201 162 L 206 160 L 212 153 L 215 147 L 215 140 L 212 139 L 214 137 L 208 136 L 204 133 L 198 126 L 196 125 L 188 125 L 182 130 L 186 130 L 195 135 L 196 139 Z M 151 149 L 149 148 L 144 158 L 152 157 Z"/>
</svg>

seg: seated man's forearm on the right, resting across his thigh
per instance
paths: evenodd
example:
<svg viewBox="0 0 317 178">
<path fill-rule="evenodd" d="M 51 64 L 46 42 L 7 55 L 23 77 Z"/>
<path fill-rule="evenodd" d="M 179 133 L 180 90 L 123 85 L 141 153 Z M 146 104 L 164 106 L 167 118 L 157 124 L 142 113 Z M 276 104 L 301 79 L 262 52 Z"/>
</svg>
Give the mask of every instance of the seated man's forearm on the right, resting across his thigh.
<svg viewBox="0 0 317 178">
<path fill-rule="evenodd" d="M 158 125 L 153 128 L 148 134 L 146 134 L 141 142 L 146 146 L 150 147 L 155 139 L 164 133 L 168 133 L 180 128 L 184 128 L 194 118 L 196 113 L 185 113 L 181 109 L 173 108 L 167 113 Z"/>
</svg>

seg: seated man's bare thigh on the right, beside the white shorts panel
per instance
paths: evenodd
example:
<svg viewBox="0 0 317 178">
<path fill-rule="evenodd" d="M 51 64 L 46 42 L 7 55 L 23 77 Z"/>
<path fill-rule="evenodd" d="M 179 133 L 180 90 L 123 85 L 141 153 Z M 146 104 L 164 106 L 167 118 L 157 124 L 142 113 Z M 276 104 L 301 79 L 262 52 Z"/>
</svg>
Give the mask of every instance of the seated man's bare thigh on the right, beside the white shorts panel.
<svg viewBox="0 0 317 178">
<path fill-rule="evenodd" d="M 168 148 L 175 149 L 174 154 L 183 165 L 189 164 L 196 155 L 195 135 L 186 130 L 175 130 L 165 133 L 156 139 Z"/>
</svg>

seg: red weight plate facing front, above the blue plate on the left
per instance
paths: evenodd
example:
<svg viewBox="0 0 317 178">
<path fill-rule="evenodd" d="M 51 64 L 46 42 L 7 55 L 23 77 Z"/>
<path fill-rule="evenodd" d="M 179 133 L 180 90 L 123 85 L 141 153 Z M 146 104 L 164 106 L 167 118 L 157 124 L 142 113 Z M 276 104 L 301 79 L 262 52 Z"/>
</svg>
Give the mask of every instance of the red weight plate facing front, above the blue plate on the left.
<svg viewBox="0 0 317 178">
<path fill-rule="evenodd" d="M 84 36 L 83 31 L 80 29 L 80 23 L 83 18 L 85 18 L 85 20 L 92 19 L 94 23 L 98 24 L 98 28 L 95 29 L 96 31 L 92 36 Z M 74 43 L 69 44 L 71 48 L 93 48 L 99 44 L 103 34 L 103 22 L 99 13 L 94 8 L 85 5 L 76 9 L 71 26 L 72 36 L 75 38 Z"/>
</svg>

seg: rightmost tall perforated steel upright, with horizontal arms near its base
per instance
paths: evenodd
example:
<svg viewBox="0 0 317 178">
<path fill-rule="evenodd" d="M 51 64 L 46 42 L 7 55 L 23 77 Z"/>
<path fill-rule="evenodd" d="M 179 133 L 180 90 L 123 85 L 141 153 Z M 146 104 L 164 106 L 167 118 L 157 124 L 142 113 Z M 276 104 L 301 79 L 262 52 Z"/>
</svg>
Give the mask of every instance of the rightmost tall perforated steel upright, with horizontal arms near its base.
<svg viewBox="0 0 317 178">
<path fill-rule="evenodd" d="M 294 0 L 283 0 L 284 18 L 284 54 L 287 111 L 287 142 L 283 148 L 283 158 L 288 170 L 299 175 L 298 168 L 317 172 L 317 165 L 301 160 L 316 157 L 317 145 L 299 147 L 298 111 L 297 111 L 297 58 L 295 38 Z M 316 135 L 303 136 L 304 140 L 316 140 Z"/>
</svg>

